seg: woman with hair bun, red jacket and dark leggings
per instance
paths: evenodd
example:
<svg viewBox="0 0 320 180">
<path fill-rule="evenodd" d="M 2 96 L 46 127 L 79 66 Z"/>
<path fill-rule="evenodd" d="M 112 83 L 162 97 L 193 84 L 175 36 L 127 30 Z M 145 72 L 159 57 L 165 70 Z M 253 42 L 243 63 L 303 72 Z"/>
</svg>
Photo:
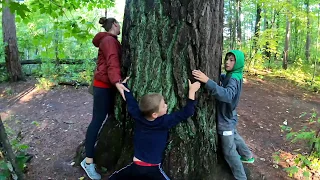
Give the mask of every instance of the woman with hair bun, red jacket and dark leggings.
<svg viewBox="0 0 320 180">
<path fill-rule="evenodd" d="M 122 97 L 124 90 L 129 91 L 121 83 L 121 45 L 117 39 L 117 35 L 120 34 L 120 24 L 114 18 L 105 17 L 100 18 L 99 23 L 107 32 L 99 32 L 92 40 L 99 51 L 93 81 L 92 121 L 86 134 L 86 158 L 81 162 L 82 168 L 91 179 L 101 179 L 93 163 L 94 145 L 103 121 L 113 110 L 115 87 Z"/>
</svg>

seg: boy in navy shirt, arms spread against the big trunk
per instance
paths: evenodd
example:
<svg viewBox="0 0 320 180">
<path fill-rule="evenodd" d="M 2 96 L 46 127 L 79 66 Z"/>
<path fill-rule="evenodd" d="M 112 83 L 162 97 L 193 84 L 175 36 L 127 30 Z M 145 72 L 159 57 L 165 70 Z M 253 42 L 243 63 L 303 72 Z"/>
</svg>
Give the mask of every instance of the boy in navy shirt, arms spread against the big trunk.
<svg viewBox="0 0 320 180">
<path fill-rule="evenodd" d="M 195 93 L 199 88 L 199 82 L 191 83 L 189 80 L 187 104 L 180 111 L 171 114 L 167 114 L 167 104 L 161 94 L 146 94 L 138 104 L 132 92 L 124 91 L 128 113 L 135 121 L 134 157 L 131 164 L 114 172 L 109 177 L 110 180 L 169 179 L 161 168 L 169 129 L 193 115 Z"/>
</svg>

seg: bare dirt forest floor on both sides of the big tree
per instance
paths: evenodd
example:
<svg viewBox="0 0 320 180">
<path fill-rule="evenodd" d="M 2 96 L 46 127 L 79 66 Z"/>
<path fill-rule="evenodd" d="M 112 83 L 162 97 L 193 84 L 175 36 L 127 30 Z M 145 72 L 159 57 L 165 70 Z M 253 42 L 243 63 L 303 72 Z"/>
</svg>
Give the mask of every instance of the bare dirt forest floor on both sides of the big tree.
<svg viewBox="0 0 320 180">
<path fill-rule="evenodd" d="M 26 179 L 87 179 L 84 171 L 72 164 L 91 120 L 92 96 L 87 87 L 60 86 L 45 91 L 35 84 L 33 79 L 0 84 L 0 115 L 14 133 L 20 132 L 22 143 L 34 155 Z M 263 179 L 290 179 L 283 167 L 292 164 L 297 151 L 307 152 L 308 148 L 303 143 L 287 141 L 280 126 L 286 121 L 293 130 L 300 130 L 309 123 L 308 116 L 299 116 L 313 110 L 320 112 L 319 94 L 285 79 L 246 78 L 238 108 L 238 131 L 256 157 L 256 162 L 248 167 Z M 275 152 L 289 160 L 275 164 Z"/>
</svg>

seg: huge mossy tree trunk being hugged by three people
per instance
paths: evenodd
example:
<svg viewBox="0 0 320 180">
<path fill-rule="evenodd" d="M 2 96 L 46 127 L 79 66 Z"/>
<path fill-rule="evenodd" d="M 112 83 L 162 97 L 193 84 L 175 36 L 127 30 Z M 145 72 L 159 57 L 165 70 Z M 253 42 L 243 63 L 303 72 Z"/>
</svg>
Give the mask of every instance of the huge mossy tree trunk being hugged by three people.
<svg viewBox="0 0 320 180">
<path fill-rule="evenodd" d="M 186 102 L 191 70 L 201 69 L 218 80 L 222 0 L 127 0 L 124 17 L 123 64 L 136 98 L 159 92 L 169 111 L 177 110 Z M 170 132 L 163 167 L 172 179 L 232 179 L 217 159 L 215 103 L 205 91 L 198 99 L 194 117 Z M 133 122 L 125 104 L 117 102 L 116 118 L 107 121 L 96 147 L 95 161 L 109 170 L 133 157 Z"/>
</svg>

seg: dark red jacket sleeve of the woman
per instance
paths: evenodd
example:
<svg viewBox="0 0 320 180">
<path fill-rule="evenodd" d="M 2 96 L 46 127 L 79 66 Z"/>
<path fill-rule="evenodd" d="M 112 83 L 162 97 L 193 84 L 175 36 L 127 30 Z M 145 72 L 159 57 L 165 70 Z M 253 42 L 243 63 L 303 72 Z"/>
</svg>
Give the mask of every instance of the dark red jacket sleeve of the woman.
<svg viewBox="0 0 320 180">
<path fill-rule="evenodd" d="M 107 37 L 100 43 L 100 49 L 106 58 L 109 81 L 116 84 L 121 81 L 119 45 L 113 37 Z"/>
</svg>

